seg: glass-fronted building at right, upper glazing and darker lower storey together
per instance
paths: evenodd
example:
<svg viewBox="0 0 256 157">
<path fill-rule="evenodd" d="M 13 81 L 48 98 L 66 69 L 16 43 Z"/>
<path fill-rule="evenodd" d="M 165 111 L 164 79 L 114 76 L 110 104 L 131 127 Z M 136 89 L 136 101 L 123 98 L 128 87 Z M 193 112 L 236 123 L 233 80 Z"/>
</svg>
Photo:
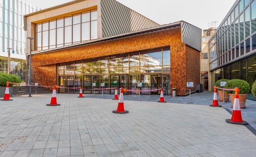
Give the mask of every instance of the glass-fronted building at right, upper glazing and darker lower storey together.
<svg viewBox="0 0 256 157">
<path fill-rule="evenodd" d="M 236 0 L 209 41 L 212 87 L 218 79 L 256 80 L 256 0 Z"/>
</svg>

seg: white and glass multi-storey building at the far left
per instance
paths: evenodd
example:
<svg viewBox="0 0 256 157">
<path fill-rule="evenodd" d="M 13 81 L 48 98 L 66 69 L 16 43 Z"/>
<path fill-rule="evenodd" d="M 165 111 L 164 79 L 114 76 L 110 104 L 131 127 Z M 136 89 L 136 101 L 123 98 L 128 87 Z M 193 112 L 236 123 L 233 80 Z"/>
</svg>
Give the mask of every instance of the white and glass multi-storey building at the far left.
<svg viewBox="0 0 256 157">
<path fill-rule="evenodd" d="M 10 51 L 10 74 L 26 78 L 26 31 L 23 15 L 38 8 L 26 0 L 0 0 L 0 72 L 8 72 Z M 8 50 L 9 49 L 9 50 Z"/>
</svg>

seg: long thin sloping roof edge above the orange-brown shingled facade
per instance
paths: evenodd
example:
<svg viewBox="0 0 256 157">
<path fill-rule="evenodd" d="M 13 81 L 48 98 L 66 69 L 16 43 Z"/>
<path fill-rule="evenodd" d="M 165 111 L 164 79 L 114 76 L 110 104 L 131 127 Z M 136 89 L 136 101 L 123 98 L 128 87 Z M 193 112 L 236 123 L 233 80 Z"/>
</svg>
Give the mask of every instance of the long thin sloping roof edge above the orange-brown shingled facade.
<svg viewBox="0 0 256 157">
<path fill-rule="evenodd" d="M 164 31 L 164 30 L 169 30 L 169 29 L 178 28 L 178 27 L 181 27 L 181 21 L 166 24 L 166 25 L 156 26 L 153 28 L 148 28 L 148 29 L 144 29 L 144 30 L 140 30 L 140 31 L 133 31 L 133 32 L 129 32 L 129 33 L 121 34 L 121 35 L 110 36 L 107 38 L 90 40 L 90 41 L 82 42 L 79 44 L 72 44 L 72 45 L 68 45 L 68 46 L 64 46 L 64 47 L 60 47 L 60 48 L 52 48 L 52 49 L 47 49 L 47 50 L 33 51 L 32 55 L 40 54 L 40 53 L 56 52 L 56 51 L 63 50 L 63 49 L 81 47 L 81 46 L 95 44 L 95 43 L 102 43 L 102 42 L 106 42 L 106 41 L 110 41 L 110 40 L 122 39 L 122 38 L 126 38 L 126 37 L 132 37 L 135 35 L 141 35 L 141 34 L 147 34 L 147 33 L 153 33 L 156 31 Z M 27 56 L 29 56 L 29 54 L 27 54 Z"/>
</svg>

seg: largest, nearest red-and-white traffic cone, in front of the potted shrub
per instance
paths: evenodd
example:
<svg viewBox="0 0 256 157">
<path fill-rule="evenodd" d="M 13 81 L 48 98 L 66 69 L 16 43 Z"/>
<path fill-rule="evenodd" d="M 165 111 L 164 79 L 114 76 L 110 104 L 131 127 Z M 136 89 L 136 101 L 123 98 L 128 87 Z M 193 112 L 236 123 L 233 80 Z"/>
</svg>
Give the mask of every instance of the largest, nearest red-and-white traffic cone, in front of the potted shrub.
<svg viewBox="0 0 256 157">
<path fill-rule="evenodd" d="M 231 124 L 238 124 L 238 125 L 248 125 L 247 122 L 243 121 L 242 115 L 241 115 L 241 109 L 240 109 L 239 98 L 238 98 L 239 88 L 235 87 L 234 91 L 235 91 L 235 98 L 234 98 L 232 118 L 226 119 L 226 122 Z"/>
</svg>

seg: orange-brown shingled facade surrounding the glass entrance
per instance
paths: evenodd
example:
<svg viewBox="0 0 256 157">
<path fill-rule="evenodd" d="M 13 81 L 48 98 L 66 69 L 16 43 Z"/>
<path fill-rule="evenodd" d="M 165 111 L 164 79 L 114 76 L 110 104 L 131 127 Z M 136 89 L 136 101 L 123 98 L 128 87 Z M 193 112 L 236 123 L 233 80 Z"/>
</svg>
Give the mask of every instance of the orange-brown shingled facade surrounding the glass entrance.
<svg viewBox="0 0 256 157">
<path fill-rule="evenodd" d="M 187 80 L 190 80 L 185 78 L 192 78 L 198 74 L 197 78 L 199 80 L 195 79 L 195 81 L 200 82 L 200 58 L 197 50 L 181 42 L 181 28 L 32 55 L 32 80 L 44 86 L 53 86 L 57 83 L 57 63 L 163 46 L 170 46 L 171 50 L 171 88 L 177 87 L 177 95 L 185 95 L 187 93 L 185 84 Z M 185 64 L 186 61 L 189 63 L 198 61 L 197 63 L 190 63 L 196 66 L 193 74 L 190 74 L 190 70 L 185 69 L 186 67 L 193 69 L 190 64 Z M 186 77 L 186 74 L 188 74 L 188 77 Z"/>
</svg>

